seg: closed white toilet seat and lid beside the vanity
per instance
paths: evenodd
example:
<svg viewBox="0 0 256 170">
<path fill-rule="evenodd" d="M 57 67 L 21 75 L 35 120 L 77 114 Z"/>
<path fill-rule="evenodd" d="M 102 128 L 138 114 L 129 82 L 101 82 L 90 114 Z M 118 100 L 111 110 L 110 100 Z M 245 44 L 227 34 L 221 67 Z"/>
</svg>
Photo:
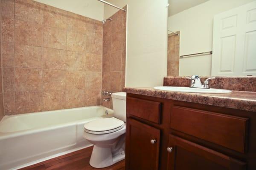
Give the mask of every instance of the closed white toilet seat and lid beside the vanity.
<svg viewBox="0 0 256 170">
<path fill-rule="evenodd" d="M 84 124 L 84 131 L 91 134 L 113 133 L 124 127 L 124 122 L 117 118 L 102 118 Z"/>
</svg>

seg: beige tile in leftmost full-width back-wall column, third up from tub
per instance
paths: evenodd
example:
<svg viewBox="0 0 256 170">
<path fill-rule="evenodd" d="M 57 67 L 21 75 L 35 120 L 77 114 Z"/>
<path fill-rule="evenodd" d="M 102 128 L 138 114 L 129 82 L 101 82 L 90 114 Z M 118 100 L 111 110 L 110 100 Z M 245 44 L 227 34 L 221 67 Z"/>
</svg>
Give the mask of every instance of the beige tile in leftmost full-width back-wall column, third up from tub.
<svg viewBox="0 0 256 170">
<path fill-rule="evenodd" d="M 43 48 L 15 44 L 15 67 L 42 69 Z"/>
</svg>

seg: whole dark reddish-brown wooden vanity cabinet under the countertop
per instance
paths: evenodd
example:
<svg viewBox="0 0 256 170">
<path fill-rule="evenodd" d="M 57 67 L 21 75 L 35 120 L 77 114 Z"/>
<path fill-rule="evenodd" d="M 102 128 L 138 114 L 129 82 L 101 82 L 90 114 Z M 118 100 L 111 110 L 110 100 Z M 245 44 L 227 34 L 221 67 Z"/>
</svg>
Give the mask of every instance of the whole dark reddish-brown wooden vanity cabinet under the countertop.
<svg viewBox="0 0 256 170">
<path fill-rule="evenodd" d="M 256 112 L 130 93 L 126 102 L 126 170 L 256 170 Z"/>
</svg>

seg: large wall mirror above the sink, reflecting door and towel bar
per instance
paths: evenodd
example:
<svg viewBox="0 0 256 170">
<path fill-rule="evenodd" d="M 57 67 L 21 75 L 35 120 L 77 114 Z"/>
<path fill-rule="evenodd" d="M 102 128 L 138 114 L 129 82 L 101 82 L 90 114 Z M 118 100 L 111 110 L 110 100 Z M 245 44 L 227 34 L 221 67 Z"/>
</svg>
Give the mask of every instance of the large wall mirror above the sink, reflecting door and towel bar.
<svg viewBox="0 0 256 170">
<path fill-rule="evenodd" d="M 169 0 L 168 76 L 256 75 L 255 0 Z"/>
</svg>

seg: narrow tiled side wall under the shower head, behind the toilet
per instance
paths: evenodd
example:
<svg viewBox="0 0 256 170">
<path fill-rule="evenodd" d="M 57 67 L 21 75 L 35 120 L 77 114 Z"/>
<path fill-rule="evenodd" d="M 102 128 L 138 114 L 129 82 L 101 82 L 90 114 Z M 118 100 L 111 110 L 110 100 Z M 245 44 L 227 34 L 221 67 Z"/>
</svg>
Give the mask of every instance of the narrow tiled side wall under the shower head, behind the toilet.
<svg viewBox="0 0 256 170">
<path fill-rule="evenodd" d="M 119 10 L 111 18 L 103 26 L 102 91 L 122 92 L 125 86 L 126 12 Z M 102 95 L 102 98 L 108 97 Z M 112 109 L 112 99 L 102 105 Z"/>
</svg>

